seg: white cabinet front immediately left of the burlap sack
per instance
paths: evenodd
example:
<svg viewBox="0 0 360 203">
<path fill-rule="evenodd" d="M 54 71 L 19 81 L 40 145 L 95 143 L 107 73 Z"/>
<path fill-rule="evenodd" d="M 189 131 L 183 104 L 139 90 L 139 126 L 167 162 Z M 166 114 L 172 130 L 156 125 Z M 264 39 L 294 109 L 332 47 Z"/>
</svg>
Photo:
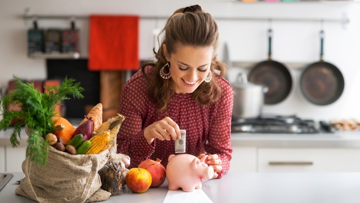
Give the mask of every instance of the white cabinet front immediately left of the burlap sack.
<svg viewBox="0 0 360 203">
<path fill-rule="evenodd" d="M 6 147 L 6 171 L 22 172 L 21 164 L 26 157 L 26 147 Z"/>
</svg>

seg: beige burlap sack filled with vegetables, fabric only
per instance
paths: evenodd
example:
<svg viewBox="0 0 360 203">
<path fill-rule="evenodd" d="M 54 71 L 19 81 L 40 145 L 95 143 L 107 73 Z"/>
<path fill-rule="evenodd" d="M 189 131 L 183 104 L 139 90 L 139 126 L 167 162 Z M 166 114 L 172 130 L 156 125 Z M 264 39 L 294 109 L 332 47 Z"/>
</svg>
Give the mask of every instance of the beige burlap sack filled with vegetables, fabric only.
<svg viewBox="0 0 360 203">
<path fill-rule="evenodd" d="M 71 155 L 49 146 L 45 167 L 22 164 L 25 178 L 15 193 L 39 203 L 85 203 L 107 200 L 110 193 L 100 189 L 98 170 L 108 161 L 109 151 L 96 155 Z M 92 197 L 93 196 L 93 197 Z"/>
</svg>

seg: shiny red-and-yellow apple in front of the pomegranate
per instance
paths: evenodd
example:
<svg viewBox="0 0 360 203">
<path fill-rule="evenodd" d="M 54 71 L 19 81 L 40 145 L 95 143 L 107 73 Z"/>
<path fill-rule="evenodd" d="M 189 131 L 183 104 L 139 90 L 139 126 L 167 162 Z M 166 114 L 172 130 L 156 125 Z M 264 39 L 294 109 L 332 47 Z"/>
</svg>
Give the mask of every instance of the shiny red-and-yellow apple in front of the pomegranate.
<svg viewBox="0 0 360 203">
<path fill-rule="evenodd" d="M 144 168 L 131 168 L 125 176 L 126 185 L 134 193 L 144 193 L 151 185 L 152 178 Z"/>
</svg>

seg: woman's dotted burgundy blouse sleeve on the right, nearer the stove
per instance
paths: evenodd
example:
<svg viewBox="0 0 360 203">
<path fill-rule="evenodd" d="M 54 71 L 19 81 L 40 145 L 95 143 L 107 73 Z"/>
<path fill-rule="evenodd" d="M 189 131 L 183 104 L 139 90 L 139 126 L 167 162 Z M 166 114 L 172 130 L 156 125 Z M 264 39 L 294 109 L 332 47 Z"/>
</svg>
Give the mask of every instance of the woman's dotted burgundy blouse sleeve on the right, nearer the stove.
<svg viewBox="0 0 360 203">
<path fill-rule="evenodd" d="M 231 114 L 234 102 L 234 92 L 226 81 L 222 83 L 222 94 L 215 105 L 213 120 L 209 129 L 208 143 L 205 151 L 217 154 L 221 160 L 222 170 L 217 172 L 218 178 L 230 169 L 231 160 Z"/>
</svg>

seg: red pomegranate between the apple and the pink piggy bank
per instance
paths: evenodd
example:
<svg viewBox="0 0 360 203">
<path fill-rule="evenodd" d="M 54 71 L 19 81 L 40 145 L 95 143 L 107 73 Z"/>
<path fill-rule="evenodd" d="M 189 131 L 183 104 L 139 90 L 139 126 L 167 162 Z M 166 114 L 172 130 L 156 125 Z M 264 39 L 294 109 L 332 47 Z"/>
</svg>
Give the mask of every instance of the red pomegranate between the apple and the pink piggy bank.
<svg viewBox="0 0 360 203">
<path fill-rule="evenodd" d="M 165 182 L 166 178 L 166 169 L 165 167 L 160 163 L 161 160 L 156 159 L 154 160 L 144 160 L 140 163 L 139 168 L 144 168 L 148 170 L 152 177 L 152 182 L 150 187 L 159 187 Z"/>
</svg>

